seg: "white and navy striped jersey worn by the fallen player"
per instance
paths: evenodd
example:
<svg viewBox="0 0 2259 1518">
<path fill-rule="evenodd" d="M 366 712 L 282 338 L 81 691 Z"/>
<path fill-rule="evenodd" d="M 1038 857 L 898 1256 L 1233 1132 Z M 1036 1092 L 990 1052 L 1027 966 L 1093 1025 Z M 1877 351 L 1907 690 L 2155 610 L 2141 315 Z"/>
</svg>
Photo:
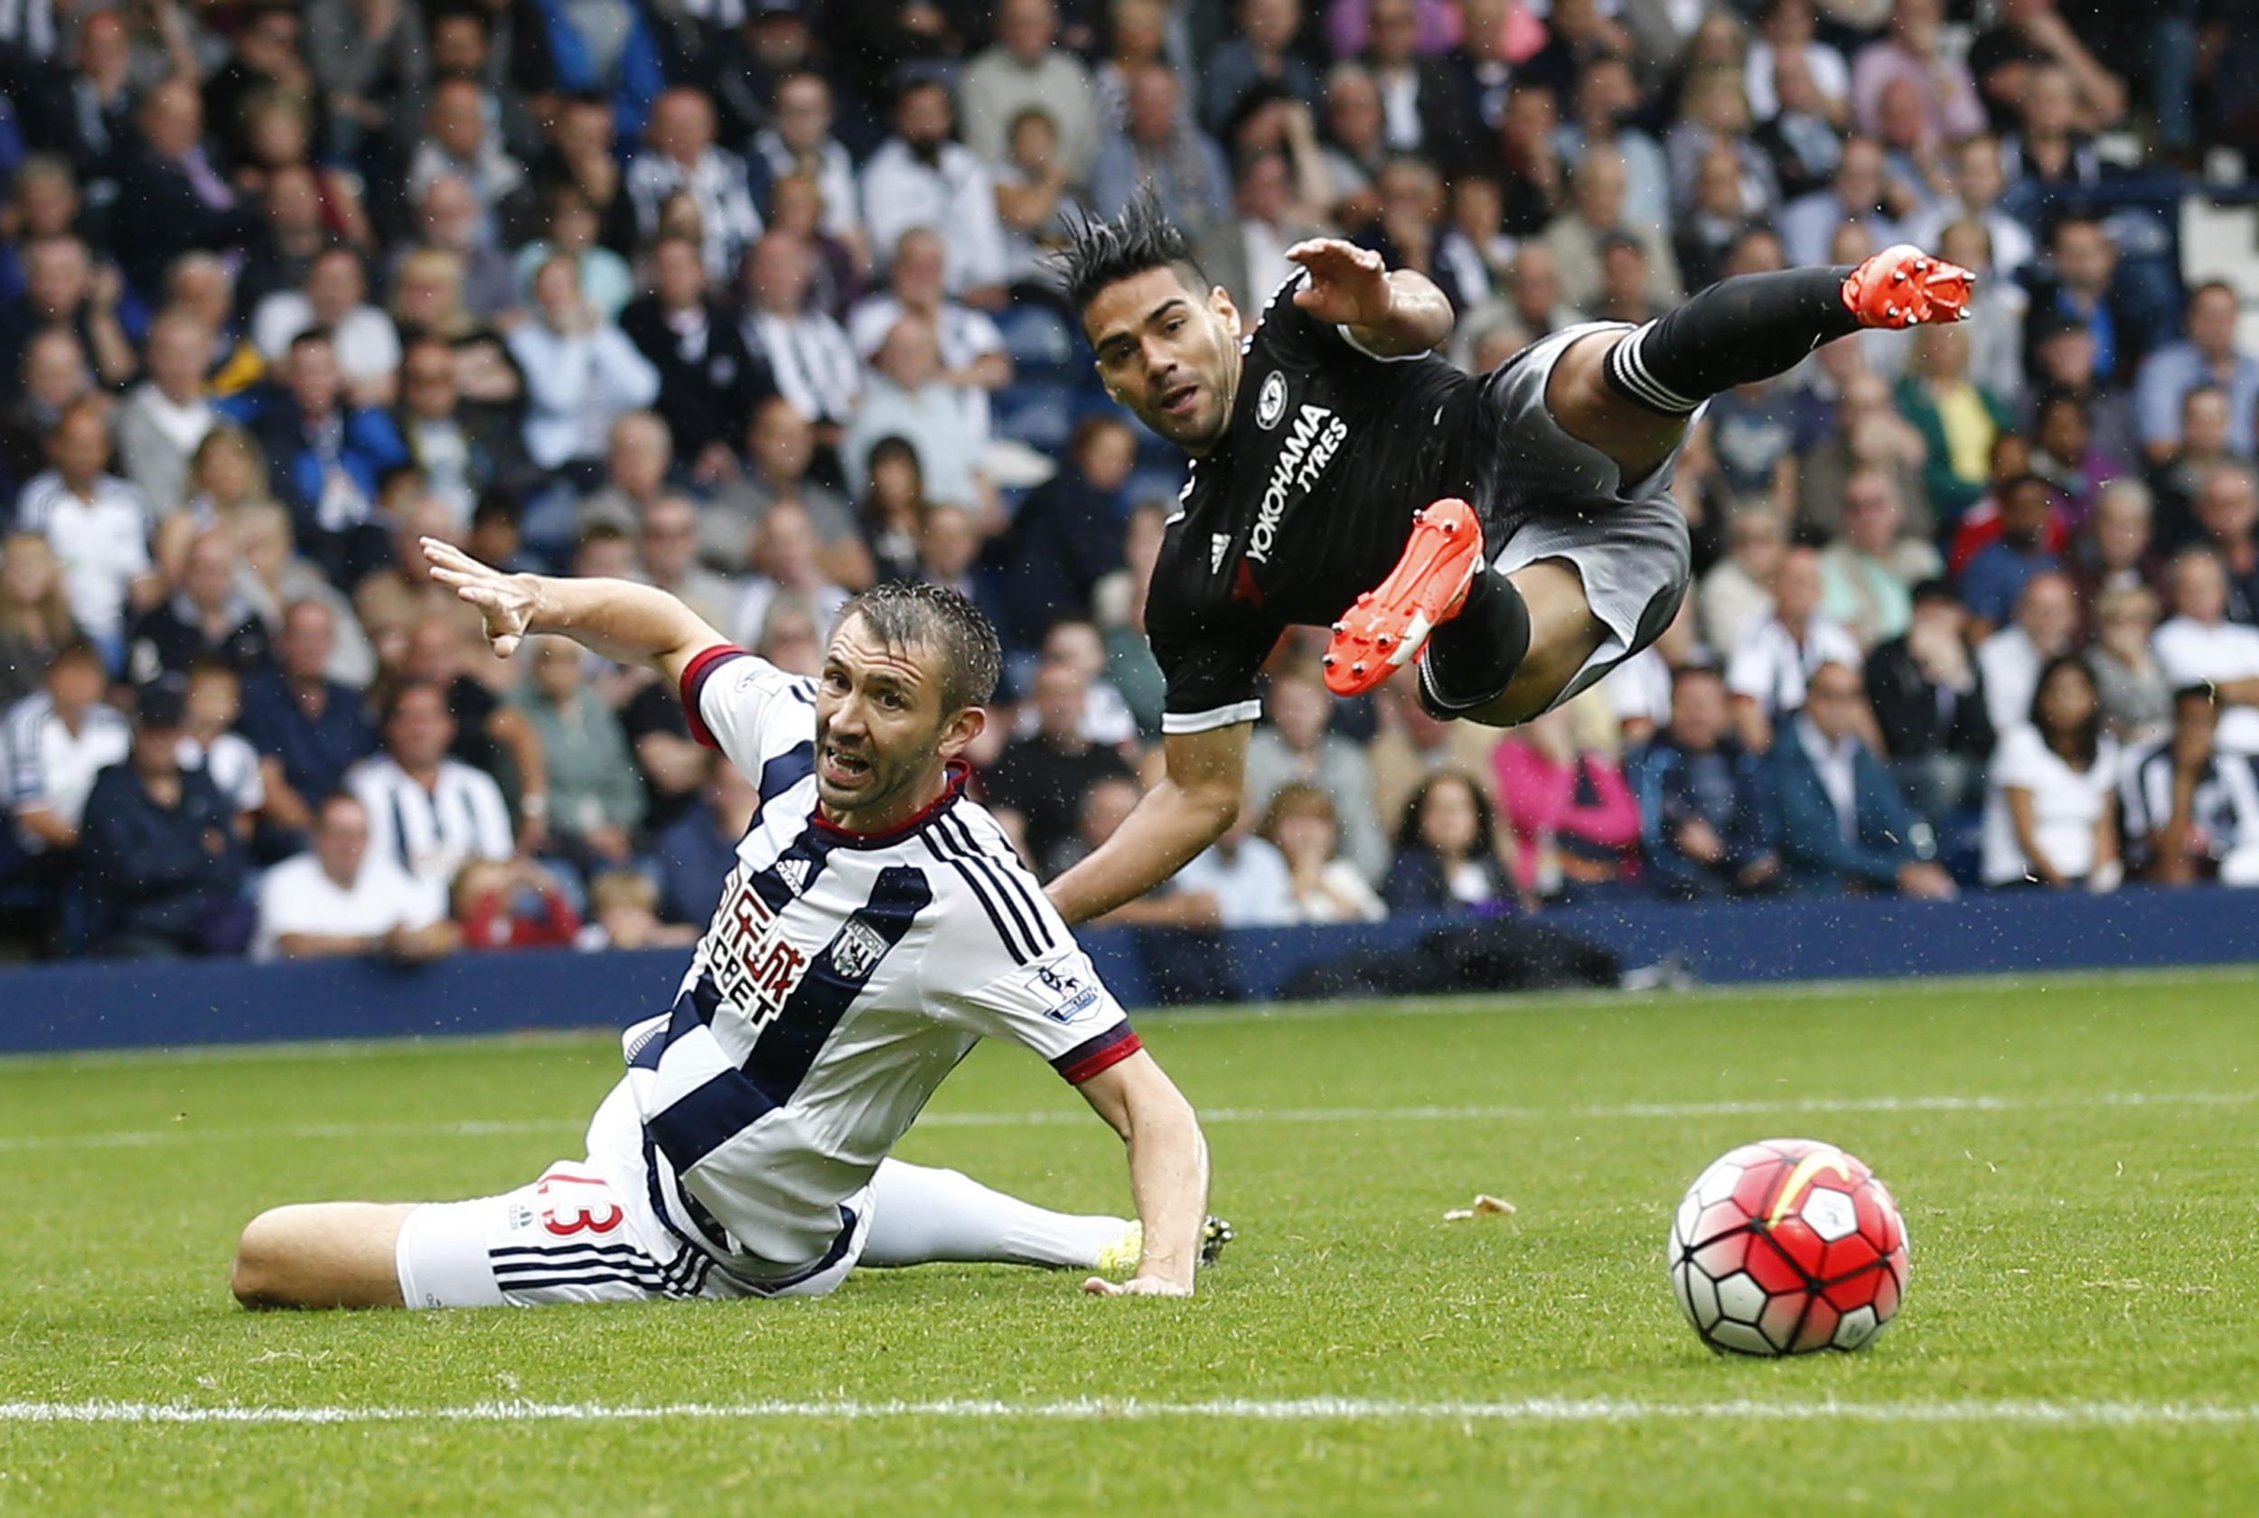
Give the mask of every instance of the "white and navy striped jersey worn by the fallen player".
<svg viewBox="0 0 2259 1518">
<path fill-rule="evenodd" d="M 684 1245 L 775 1288 L 847 1238 L 843 1204 L 978 1039 L 1069 1082 L 1139 1039 L 962 768 L 904 827 L 852 834 L 818 815 L 811 680 L 709 648 L 682 703 L 761 809 L 673 1012 L 623 1035 L 639 1163 L 592 1157 Z"/>
</svg>

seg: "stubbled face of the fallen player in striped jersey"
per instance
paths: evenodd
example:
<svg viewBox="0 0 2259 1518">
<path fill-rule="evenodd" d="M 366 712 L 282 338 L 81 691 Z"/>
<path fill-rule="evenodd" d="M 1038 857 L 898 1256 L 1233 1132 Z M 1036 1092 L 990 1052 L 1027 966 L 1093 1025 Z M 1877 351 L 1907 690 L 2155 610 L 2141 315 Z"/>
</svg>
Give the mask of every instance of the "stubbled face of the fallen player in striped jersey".
<svg viewBox="0 0 2259 1518">
<path fill-rule="evenodd" d="M 944 709 L 937 664 L 931 648 L 890 648 L 863 617 L 831 635 L 815 680 L 815 793 L 838 822 L 906 820 L 980 732 L 974 712 Z"/>
</svg>

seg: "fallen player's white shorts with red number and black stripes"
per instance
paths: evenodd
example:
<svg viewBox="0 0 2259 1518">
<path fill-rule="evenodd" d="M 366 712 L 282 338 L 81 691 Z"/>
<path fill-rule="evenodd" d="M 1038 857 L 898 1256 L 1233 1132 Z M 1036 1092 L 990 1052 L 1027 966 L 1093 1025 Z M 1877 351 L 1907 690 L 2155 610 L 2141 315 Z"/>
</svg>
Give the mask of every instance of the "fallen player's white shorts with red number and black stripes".
<svg viewBox="0 0 2259 1518">
<path fill-rule="evenodd" d="M 411 1308 L 535 1308 L 556 1301 L 822 1297 L 863 1258 L 870 1193 L 849 1197 L 840 1236 L 804 1270 L 745 1279 L 712 1254 L 639 1227 L 587 1161 L 558 1161 L 531 1186 L 472 1202 L 427 1202 L 400 1224 L 393 1260 Z"/>
</svg>

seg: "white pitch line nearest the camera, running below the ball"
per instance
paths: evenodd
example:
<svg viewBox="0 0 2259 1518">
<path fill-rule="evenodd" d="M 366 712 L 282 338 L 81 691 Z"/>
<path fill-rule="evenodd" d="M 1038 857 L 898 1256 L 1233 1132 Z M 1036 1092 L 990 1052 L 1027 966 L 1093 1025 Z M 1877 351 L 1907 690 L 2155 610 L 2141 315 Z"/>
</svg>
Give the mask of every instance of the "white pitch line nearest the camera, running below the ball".
<svg viewBox="0 0 2259 1518">
<path fill-rule="evenodd" d="M 465 1403 L 459 1407 L 242 1407 L 183 1403 L 0 1403 L 0 1423 L 138 1423 L 138 1425 L 337 1425 L 337 1423 L 718 1423 L 802 1421 L 1064 1421 L 1154 1423 L 1227 1419 L 1240 1423 L 1929 1423 L 2020 1428 L 2250 1428 L 2259 1405 L 2117 1403 L 2117 1401 L 1947 1401 L 1947 1403 L 1803 1403 L 1715 1401 L 1649 1403 L 1640 1398 L 1389 1401 L 1306 1396 L 1285 1401 L 1141 1401 L 1064 1398 L 1008 1403 L 947 1401 L 748 1401 L 748 1403 Z"/>
</svg>

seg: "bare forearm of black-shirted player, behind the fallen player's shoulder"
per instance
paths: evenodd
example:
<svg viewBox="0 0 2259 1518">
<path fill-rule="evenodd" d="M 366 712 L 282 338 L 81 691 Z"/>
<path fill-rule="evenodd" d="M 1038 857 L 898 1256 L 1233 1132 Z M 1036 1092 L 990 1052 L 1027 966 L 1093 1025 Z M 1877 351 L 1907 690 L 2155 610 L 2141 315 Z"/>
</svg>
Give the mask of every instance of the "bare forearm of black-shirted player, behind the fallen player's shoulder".
<svg viewBox="0 0 2259 1518">
<path fill-rule="evenodd" d="M 1066 922 L 1089 922 L 1177 874 L 1240 815 L 1254 723 L 1175 732 L 1168 773 L 1091 854 L 1044 888 Z"/>
</svg>

